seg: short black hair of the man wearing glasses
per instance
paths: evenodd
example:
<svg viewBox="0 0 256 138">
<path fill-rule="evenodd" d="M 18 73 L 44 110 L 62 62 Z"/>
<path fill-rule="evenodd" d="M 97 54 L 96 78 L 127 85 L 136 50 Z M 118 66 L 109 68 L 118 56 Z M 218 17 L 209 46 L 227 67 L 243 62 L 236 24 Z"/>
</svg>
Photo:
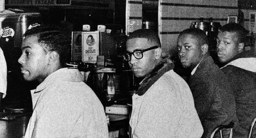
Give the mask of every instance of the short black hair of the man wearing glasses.
<svg viewBox="0 0 256 138">
<path fill-rule="evenodd" d="M 129 33 L 127 40 L 132 38 L 146 38 L 151 42 L 157 43 L 158 47 L 161 47 L 161 42 L 157 32 L 152 29 L 138 29 Z"/>
</svg>

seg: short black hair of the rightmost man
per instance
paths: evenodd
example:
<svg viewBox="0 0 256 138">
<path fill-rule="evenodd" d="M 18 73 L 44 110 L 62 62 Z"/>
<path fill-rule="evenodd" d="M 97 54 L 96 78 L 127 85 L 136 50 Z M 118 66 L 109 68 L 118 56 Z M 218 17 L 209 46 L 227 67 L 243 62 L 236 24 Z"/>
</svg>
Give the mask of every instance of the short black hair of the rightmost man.
<svg viewBox="0 0 256 138">
<path fill-rule="evenodd" d="M 232 32 L 235 33 L 238 39 L 238 43 L 245 43 L 247 30 L 238 23 L 228 23 L 220 28 L 221 32 Z"/>
</svg>

